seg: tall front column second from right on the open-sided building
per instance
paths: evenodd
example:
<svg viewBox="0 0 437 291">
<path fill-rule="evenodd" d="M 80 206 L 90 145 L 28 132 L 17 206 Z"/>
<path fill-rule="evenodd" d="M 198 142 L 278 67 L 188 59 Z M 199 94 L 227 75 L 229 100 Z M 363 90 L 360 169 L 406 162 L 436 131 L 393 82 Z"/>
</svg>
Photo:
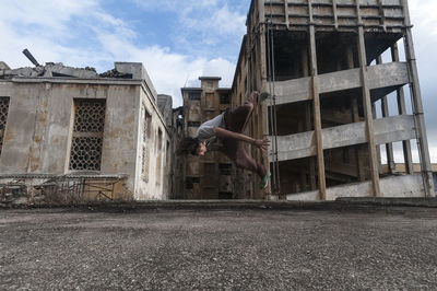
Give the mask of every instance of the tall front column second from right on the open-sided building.
<svg viewBox="0 0 437 291">
<path fill-rule="evenodd" d="M 363 107 L 366 123 L 366 136 L 369 151 L 369 163 L 370 163 L 370 177 L 374 196 L 380 196 L 379 190 L 379 173 L 377 166 L 376 156 L 376 144 L 374 136 L 374 118 L 371 114 L 371 101 L 370 90 L 367 85 L 367 57 L 366 57 L 366 45 L 364 40 L 364 27 L 359 11 L 359 0 L 356 0 L 356 13 L 358 18 L 358 57 L 359 57 L 359 75 L 363 89 Z"/>
</svg>

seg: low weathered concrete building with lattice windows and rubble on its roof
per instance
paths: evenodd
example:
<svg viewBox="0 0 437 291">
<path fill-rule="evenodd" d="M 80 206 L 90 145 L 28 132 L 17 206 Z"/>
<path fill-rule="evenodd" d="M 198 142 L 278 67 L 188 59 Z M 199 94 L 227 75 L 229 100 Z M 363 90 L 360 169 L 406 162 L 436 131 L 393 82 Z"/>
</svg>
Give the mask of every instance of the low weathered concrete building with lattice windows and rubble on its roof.
<svg viewBox="0 0 437 291">
<path fill-rule="evenodd" d="M 156 94 L 142 63 L 98 74 L 2 62 L 0 184 L 76 201 L 166 199 L 172 118 L 172 97 Z"/>
</svg>

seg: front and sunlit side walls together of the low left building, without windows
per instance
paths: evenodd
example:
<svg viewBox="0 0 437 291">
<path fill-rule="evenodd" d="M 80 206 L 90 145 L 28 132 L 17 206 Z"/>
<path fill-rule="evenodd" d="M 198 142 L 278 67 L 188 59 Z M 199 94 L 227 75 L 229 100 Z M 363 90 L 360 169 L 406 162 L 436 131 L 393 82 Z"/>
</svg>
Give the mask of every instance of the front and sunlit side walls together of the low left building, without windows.
<svg viewBox="0 0 437 291">
<path fill-rule="evenodd" d="M 74 123 L 74 98 L 103 98 L 106 116 L 103 133 L 101 171 L 93 174 L 126 174 L 126 187 L 135 199 L 168 197 L 165 182 L 166 144 L 170 137 L 144 82 L 132 80 L 20 79 L 0 81 L 0 95 L 10 97 L 9 115 L 0 156 L 1 174 L 90 173 L 70 171 L 70 150 Z M 156 182 L 156 171 L 150 171 L 149 184 L 138 181 L 141 165 L 140 108 L 151 115 L 151 143 L 162 132 L 162 147 L 151 147 L 151 168 L 163 171 Z M 156 159 L 161 154 L 161 163 Z M 140 156 L 140 158 L 139 158 Z M 140 161 L 139 161 L 140 159 Z M 141 174 L 141 167 L 140 167 Z M 138 183 L 135 183 L 135 179 Z M 166 193 L 164 193 L 166 191 Z"/>
</svg>

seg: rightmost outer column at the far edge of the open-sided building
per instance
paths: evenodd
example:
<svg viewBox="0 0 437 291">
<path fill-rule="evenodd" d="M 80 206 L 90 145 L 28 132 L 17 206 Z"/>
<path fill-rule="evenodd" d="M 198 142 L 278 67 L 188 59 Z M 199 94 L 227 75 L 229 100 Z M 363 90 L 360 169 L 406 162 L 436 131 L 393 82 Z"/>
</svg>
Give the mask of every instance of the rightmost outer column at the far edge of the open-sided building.
<svg viewBox="0 0 437 291">
<path fill-rule="evenodd" d="M 434 191 L 433 171 L 430 166 L 430 158 L 428 150 L 428 138 L 426 136 L 421 86 L 418 82 L 417 63 L 414 53 L 413 35 L 411 32 L 409 3 L 406 0 L 402 0 L 402 4 L 405 18 L 405 35 L 404 35 L 405 55 L 406 55 L 406 60 L 409 62 L 410 77 L 411 77 L 410 90 L 413 103 L 413 114 L 417 131 L 422 177 L 424 181 L 425 195 L 427 197 L 435 197 L 436 194 Z"/>
</svg>

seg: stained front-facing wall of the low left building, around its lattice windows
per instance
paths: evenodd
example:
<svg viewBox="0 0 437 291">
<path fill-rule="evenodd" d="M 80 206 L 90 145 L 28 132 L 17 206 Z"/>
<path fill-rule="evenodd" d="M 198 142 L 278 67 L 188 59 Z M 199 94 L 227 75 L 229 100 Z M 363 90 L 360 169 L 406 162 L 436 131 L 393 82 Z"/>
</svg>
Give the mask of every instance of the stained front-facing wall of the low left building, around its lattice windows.
<svg viewBox="0 0 437 291">
<path fill-rule="evenodd" d="M 2 174 L 67 174 L 69 170 L 73 100 L 106 100 L 103 174 L 134 175 L 139 86 L 1 82 L 10 96 L 5 140 L 0 159 Z M 127 182 L 133 189 L 133 178 Z"/>
</svg>

